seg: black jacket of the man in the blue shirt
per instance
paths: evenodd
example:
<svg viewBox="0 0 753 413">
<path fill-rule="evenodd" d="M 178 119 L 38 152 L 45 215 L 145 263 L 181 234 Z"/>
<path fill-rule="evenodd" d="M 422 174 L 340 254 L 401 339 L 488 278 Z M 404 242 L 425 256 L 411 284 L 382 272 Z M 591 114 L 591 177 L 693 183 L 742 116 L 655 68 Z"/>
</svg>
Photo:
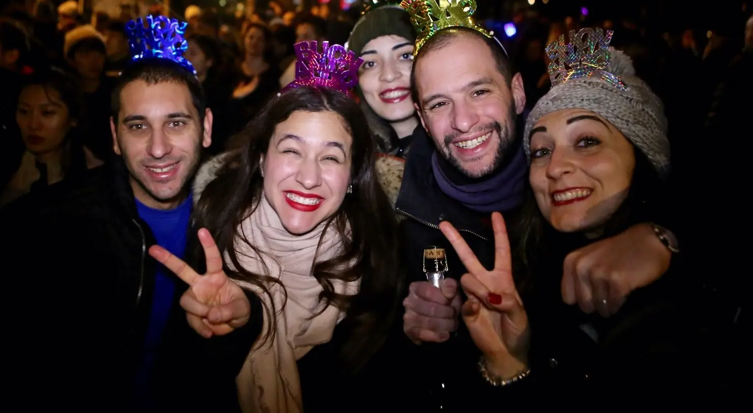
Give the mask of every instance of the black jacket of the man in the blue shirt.
<svg viewBox="0 0 753 413">
<path fill-rule="evenodd" d="M 122 162 L 9 205 L 2 228 L 6 292 L 19 311 L 11 394 L 34 410 L 128 411 L 157 262 Z M 187 285 L 175 283 L 151 382 L 160 410 L 236 411 L 234 379 L 261 333 L 261 302 L 247 293 L 248 324 L 203 339 L 178 304 Z"/>
</svg>

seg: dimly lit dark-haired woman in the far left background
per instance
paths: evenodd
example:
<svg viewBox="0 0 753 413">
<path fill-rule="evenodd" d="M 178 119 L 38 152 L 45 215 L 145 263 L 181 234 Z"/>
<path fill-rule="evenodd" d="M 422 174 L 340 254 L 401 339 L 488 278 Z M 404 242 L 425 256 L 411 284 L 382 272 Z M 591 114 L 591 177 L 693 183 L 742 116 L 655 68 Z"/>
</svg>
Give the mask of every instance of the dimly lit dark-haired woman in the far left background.
<svg viewBox="0 0 753 413">
<path fill-rule="evenodd" d="M 0 208 L 27 193 L 75 178 L 102 161 L 81 143 L 81 97 L 75 80 L 57 68 L 23 78 L 16 121 L 26 151 L 0 192 Z"/>
</svg>

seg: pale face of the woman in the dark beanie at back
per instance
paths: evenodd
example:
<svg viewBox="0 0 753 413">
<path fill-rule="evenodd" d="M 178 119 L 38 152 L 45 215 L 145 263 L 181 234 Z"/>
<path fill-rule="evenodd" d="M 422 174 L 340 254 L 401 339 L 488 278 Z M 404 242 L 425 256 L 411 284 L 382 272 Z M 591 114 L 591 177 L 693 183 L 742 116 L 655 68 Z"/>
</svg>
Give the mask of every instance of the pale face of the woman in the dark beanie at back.
<svg viewBox="0 0 753 413">
<path fill-rule="evenodd" d="M 413 42 L 389 35 L 368 42 L 358 70 L 358 86 L 366 103 L 379 117 L 389 122 L 406 120 L 416 114 L 410 99 L 410 68 Z"/>
</svg>

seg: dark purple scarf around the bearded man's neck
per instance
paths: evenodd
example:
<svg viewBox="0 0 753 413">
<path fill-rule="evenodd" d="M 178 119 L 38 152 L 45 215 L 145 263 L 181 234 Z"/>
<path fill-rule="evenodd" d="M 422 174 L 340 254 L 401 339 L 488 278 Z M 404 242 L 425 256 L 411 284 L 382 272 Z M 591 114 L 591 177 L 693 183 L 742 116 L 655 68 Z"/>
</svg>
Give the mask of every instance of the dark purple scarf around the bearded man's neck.
<svg viewBox="0 0 753 413">
<path fill-rule="evenodd" d="M 508 165 L 474 184 L 456 185 L 450 182 L 442 172 L 436 151 L 431 156 L 431 169 L 442 192 L 473 211 L 487 214 L 505 212 L 519 207 L 523 202 L 523 180 L 528 172 L 523 145 L 520 145 Z"/>
</svg>

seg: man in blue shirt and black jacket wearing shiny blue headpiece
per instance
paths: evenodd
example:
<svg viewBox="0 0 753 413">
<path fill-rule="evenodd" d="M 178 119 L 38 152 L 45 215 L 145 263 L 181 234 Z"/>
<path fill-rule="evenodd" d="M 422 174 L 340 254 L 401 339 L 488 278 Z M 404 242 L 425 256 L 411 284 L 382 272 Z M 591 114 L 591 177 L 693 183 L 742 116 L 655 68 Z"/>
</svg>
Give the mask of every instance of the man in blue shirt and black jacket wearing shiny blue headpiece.
<svg viewBox="0 0 753 413">
<path fill-rule="evenodd" d="M 127 25 L 133 62 L 111 108 L 118 159 L 4 211 L 8 291 L 26 291 L 6 368 L 26 409 L 239 411 L 235 377 L 261 302 L 221 272 L 209 232 L 190 229 L 212 111 L 182 56 L 185 26 Z M 203 246 L 204 276 L 178 258 L 188 241 Z"/>
</svg>

